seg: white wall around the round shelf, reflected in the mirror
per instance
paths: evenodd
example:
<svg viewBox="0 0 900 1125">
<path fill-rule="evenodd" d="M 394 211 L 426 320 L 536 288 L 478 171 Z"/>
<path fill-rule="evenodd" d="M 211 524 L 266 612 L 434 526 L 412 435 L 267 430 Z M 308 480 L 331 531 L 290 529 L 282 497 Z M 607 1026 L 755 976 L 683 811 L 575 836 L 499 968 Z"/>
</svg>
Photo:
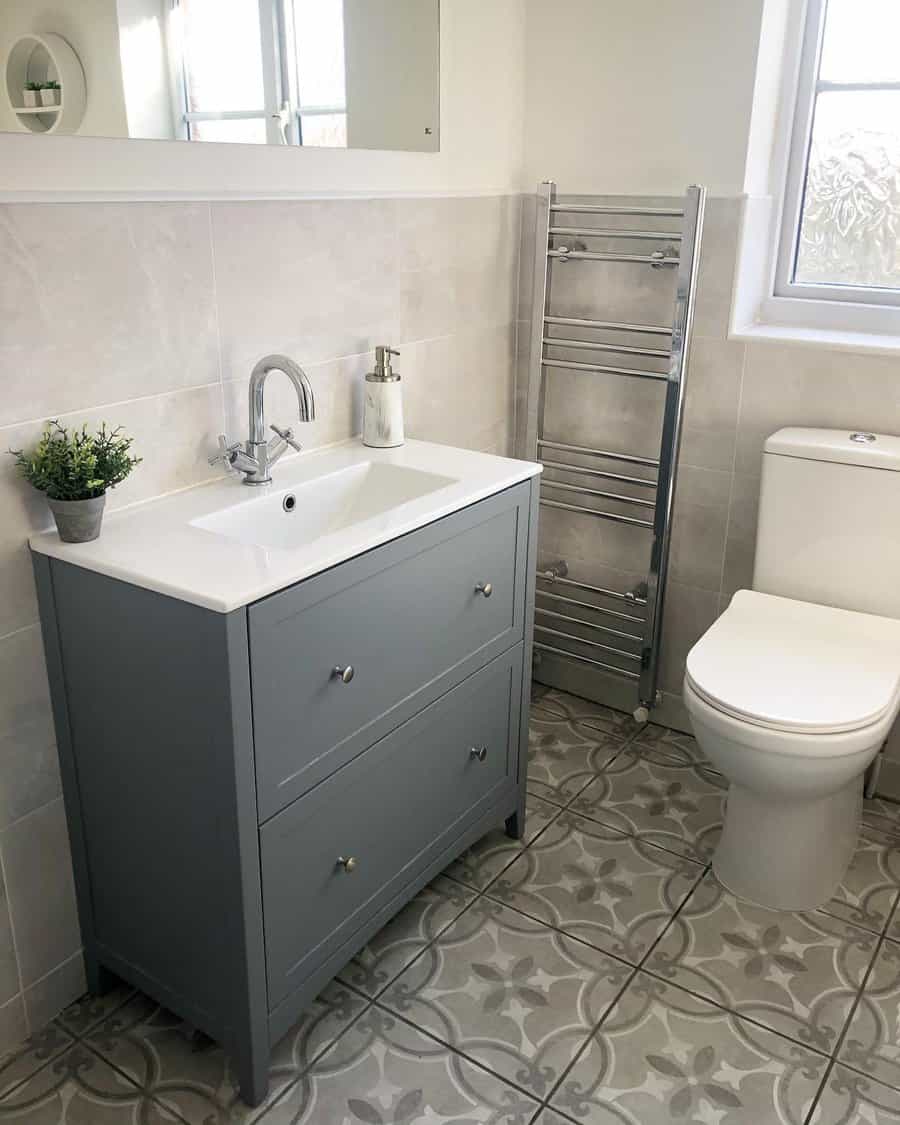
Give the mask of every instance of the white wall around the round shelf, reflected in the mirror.
<svg viewBox="0 0 900 1125">
<path fill-rule="evenodd" d="M 124 136 L 126 133 L 125 98 L 119 66 L 119 34 L 116 0 L 0 0 L 0 61 L 6 63 L 9 48 L 16 39 L 29 32 L 50 32 L 61 35 L 75 51 L 84 69 L 88 104 L 81 132 L 97 137 Z M 3 83 L 4 84 L 4 83 Z M 7 99 L 0 96 L 0 129 L 19 129 Z M 71 140 L 61 137 L 22 136 L 28 145 L 58 143 L 69 146 Z M 82 142 L 87 143 L 87 142 Z M 0 144 L 0 176 L 8 163 L 17 160 L 18 145 Z M 27 153 L 27 147 L 21 148 Z M 37 184 L 36 184 L 37 186 Z"/>
</svg>

